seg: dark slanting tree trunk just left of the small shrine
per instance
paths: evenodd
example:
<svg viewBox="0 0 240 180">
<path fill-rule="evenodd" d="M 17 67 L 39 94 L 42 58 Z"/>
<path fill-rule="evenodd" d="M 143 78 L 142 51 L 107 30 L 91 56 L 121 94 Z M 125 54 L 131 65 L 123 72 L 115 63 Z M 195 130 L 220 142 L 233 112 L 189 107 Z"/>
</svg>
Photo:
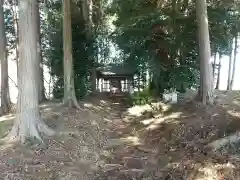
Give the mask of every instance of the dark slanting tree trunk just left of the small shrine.
<svg viewBox="0 0 240 180">
<path fill-rule="evenodd" d="M 95 59 L 94 59 L 94 52 L 92 47 L 92 40 L 93 40 L 93 1 L 92 0 L 83 0 L 82 1 L 82 12 L 83 18 L 85 21 L 85 28 L 86 28 L 86 35 L 90 46 L 89 51 L 89 60 L 91 62 L 91 89 L 92 92 L 96 91 L 96 67 L 95 67 Z"/>
</svg>

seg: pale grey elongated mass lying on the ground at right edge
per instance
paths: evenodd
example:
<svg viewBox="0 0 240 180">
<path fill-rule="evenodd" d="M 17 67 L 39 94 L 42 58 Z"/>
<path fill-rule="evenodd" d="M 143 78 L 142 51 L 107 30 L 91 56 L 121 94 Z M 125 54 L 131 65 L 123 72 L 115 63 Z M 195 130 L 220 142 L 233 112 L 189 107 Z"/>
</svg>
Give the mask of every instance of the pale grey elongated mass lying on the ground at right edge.
<svg viewBox="0 0 240 180">
<path fill-rule="evenodd" d="M 213 149 L 214 151 L 219 150 L 221 147 L 226 146 L 227 144 L 234 144 L 240 142 L 240 132 L 237 132 L 231 136 L 227 136 L 216 141 L 211 142 L 207 147 Z"/>
</svg>

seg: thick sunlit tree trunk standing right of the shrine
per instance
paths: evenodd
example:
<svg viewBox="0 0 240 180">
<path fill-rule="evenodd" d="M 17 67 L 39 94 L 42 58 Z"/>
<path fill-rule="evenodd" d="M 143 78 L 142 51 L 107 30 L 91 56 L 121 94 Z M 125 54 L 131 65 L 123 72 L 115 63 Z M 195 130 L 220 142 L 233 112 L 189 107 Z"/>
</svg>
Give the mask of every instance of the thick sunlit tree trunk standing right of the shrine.
<svg viewBox="0 0 240 180">
<path fill-rule="evenodd" d="M 198 21 L 198 41 L 200 57 L 200 100 L 203 105 L 213 103 L 213 78 L 211 49 L 209 41 L 208 16 L 206 0 L 196 0 L 196 14 Z"/>
</svg>

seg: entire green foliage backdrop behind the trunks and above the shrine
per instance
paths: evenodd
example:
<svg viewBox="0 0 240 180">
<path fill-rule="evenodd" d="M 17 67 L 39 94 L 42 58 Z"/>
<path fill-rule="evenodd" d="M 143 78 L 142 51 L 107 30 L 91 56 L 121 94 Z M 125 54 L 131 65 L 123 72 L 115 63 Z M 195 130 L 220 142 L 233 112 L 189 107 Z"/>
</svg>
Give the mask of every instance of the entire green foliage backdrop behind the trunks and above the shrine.
<svg viewBox="0 0 240 180">
<path fill-rule="evenodd" d="M 62 1 L 40 2 L 41 39 L 44 63 L 50 68 L 54 79 L 54 96 L 63 96 L 63 40 Z M 6 2 L 8 3 L 8 2 Z M 92 39 L 87 39 L 85 22 L 81 15 L 80 1 L 73 1 L 72 36 L 75 89 L 78 98 L 90 89 L 89 61 L 95 64 L 109 60 L 113 41 L 121 53 L 115 57 L 134 66 L 143 78 L 146 70 L 150 74 L 148 93 L 135 94 L 135 99 L 160 95 L 165 89 L 175 88 L 184 92 L 186 88 L 199 84 L 199 58 L 195 4 L 189 0 L 113 0 L 94 1 Z M 5 6 L 5 22 L 8 50 L 16 37 L 12 6 Z M 106 8 L 108 7 L 108 11 Z M 229 44 L 240 29 L 239 3 L 208 1 L 209 30 L 212 54 L 229 54 Z M 107 14 L 105 12 L 108 12 Z M 117 27 L 110 35 L 109 17 L 116 15 Z M 97 63 L 96 63 L 97 62 Z M 139 97 L 139 98 L 138 98 Z M 135 101 L 135 100 L 134 100 Z M 138 101 L 138 100 L 137 100 Z M 142 101 L 142 100 L 140 100 Z M 150 101 L 150 100 L 149 100 Z M 138 101 L 139 102 L 139 101 Z"/>
</svg>

